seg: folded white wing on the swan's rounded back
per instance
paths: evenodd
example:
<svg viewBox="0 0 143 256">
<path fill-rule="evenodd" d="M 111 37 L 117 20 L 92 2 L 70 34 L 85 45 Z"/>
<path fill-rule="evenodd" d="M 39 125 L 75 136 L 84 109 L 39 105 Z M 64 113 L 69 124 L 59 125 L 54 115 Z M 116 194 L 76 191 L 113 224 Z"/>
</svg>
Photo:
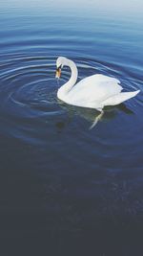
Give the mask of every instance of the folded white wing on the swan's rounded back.
<svg viewBox="0 0 143 256">
<path fill-rule="evenodd" d="M 74 105 L 89 106 L 102 103 L 121 92 L 120 81 L 104 75 L 93 75 L 76 83 L 69 92 L 69 100 Z"/>
</svg>

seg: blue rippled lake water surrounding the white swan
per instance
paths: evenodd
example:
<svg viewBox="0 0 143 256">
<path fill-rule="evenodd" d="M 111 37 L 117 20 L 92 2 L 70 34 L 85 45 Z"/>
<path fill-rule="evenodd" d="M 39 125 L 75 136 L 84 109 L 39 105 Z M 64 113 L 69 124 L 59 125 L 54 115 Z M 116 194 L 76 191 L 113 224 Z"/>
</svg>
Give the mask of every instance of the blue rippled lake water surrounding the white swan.
<svg viewBox="0 0 143 256">
<path fill-rule="evenodd" d="M 1 255 L 142 255 L 141 13 L 2 1 L 0 25 Z M 95 110 L 57 100 L 58 56 L 141 92 L 90 130 Z"/>
</svg>

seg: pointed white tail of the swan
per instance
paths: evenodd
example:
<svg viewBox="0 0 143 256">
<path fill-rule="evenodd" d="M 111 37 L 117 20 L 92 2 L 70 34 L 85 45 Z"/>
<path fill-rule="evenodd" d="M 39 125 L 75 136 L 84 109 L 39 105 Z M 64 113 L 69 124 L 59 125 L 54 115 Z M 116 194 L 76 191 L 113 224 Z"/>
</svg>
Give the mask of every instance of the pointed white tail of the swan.
<svg viewBox="0 0 143 256">
<path fill-rule="evenodd" d="M 104 105 L 118 105 L 118 104 L 121 104 L 121 103 L 133 98 L 139 92 L 140 92 L 140 90 L 133 91 L 133 92 L 121 92 L 117 95 L 114 95 L 114 96 L 108 98 L 106 101 L 104 101 L 103 104 Z"/>
</svg>

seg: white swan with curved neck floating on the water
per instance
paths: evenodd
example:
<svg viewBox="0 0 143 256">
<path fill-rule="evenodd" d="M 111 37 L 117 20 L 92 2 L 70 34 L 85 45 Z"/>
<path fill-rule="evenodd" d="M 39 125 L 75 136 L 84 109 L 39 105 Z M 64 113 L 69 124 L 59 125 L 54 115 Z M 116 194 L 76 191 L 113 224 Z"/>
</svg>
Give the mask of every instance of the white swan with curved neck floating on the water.
<svg viewBox="0 0 143 256">
<path fill-rule="evenodd" d="M 57 58 L 57 69 L 64 65 L 71 68 L 72 76 L 70 81 L 58 89 L 57 97 L 69 105 L 91 107 L 101 111 L 105 105 L 118 105 L 133 98 L 139 92 L 139 90 L 121 92 L 123 88 L 119 85 L 120 81 L 100 74 L 75 84 L 78 76 L 75 63 L 68 58 Z"/>
</svg>

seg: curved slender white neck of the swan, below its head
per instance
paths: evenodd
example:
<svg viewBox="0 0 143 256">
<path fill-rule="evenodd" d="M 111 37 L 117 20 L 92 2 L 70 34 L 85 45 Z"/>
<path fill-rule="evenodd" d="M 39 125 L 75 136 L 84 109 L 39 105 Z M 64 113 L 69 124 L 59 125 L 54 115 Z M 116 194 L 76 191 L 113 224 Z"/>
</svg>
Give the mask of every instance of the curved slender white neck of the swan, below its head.
<svg viewBox="0 0 143 256">
<path fill-rule="evenodd" d="M 61 100 L 63 100 L 64 96 L 67 96 L 67 94 L 71 91 L 72 86 L 75 84 L 78 77 L 77 67 L 72 60 L 68 59 L 65 65 L 71 68 L 72 76 L 71 79 L 68 82 L 66 82 L 63 86 L 61 86 L 57 92 L 57 96 Z"/>
</svg>

